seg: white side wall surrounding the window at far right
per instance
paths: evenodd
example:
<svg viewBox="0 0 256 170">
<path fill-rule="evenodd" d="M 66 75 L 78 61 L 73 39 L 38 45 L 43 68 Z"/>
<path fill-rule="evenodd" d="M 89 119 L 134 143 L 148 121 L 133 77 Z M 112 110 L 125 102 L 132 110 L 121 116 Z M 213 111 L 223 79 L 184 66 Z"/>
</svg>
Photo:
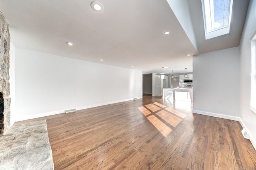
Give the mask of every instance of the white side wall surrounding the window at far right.
<svg viewBox="0 0 256 170">
<path fill-rule="evenodd" d="M 256 0 L 250 0 L 240 41 L 240 117 L 256 148 L 256 113 L 250 110 L 251 49 L 250 38 L 256 31 Z"/>
</svg>

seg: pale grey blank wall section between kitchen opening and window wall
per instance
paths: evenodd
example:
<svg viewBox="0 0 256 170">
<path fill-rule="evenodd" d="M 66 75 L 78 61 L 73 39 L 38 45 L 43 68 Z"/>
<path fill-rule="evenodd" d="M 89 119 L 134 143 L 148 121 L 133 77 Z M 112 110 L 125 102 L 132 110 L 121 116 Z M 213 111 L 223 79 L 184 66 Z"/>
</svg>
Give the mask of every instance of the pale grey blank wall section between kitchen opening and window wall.
<svg viewBox="0 0 256 170">
<path fill-rule="evenodd" d="M 239 119 L 239 47 L 193 57 L 193 113 Z"/>
</svg>

